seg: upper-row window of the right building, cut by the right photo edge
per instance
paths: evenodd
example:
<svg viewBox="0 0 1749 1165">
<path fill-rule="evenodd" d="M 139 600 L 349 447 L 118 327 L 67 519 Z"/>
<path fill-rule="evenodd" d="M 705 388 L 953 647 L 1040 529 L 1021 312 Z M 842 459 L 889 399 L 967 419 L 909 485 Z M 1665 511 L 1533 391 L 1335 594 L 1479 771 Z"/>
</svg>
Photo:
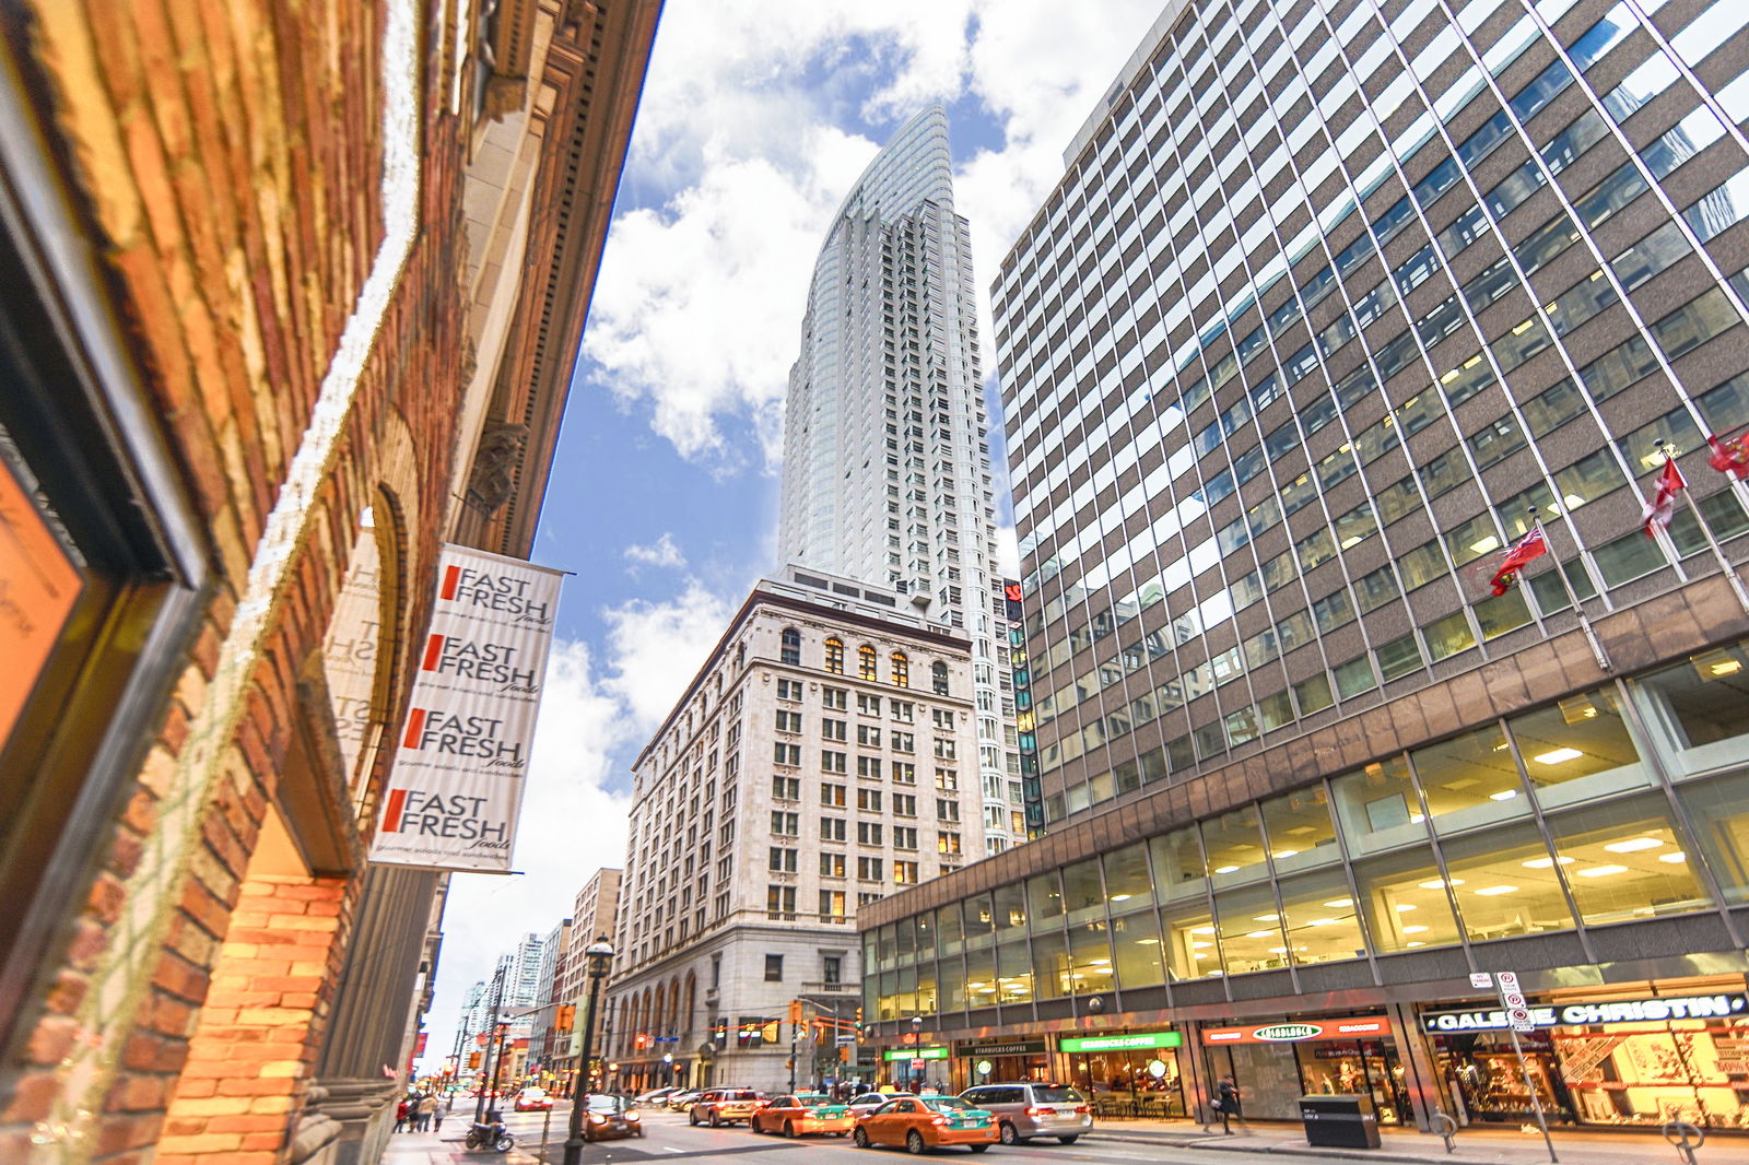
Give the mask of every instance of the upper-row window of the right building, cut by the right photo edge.
<svg viewBox="0 0 1749 1165">
<path fill-rule="evenodd" d="M 1705 773 L 1749 756 L 1749 654 L 1742 644 L 1690 656 L 1632 684 L 1670 763 Z"/>
</svg>

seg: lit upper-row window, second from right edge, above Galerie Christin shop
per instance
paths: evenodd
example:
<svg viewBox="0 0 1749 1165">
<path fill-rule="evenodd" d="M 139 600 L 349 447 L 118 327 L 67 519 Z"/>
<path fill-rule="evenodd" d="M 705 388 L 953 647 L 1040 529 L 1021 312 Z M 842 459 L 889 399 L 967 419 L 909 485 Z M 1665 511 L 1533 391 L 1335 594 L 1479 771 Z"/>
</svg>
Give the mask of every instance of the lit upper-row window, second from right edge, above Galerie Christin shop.
<svg viewBox="0 0 1749 1165">
<path fill-rule="evenodd" d="M 1649 780 L 1613 687 L 1516 715 L 1508 728 L 1543 808 L 1597 801 Z"/>
</svg>

